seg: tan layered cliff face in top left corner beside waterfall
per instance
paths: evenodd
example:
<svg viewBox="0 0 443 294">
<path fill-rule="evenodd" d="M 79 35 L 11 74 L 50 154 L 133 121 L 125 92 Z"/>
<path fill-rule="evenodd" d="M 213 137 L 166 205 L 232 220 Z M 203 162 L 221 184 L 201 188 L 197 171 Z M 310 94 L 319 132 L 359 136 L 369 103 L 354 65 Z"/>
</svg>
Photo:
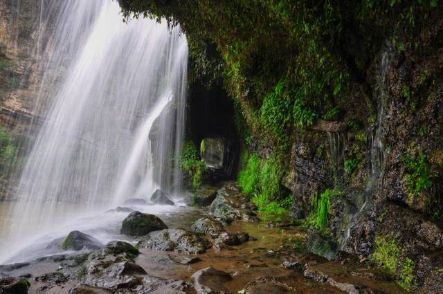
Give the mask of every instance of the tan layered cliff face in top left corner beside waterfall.
<svg viewBox="0 0 443 294">
<path fill-rule="evenodd" d="M 38 97 L 51 51 L 44 10 L 49 2 L 0 3 L 0 124 L 9 129 L 26 128 L 44 111 Z"/>
</svg>

